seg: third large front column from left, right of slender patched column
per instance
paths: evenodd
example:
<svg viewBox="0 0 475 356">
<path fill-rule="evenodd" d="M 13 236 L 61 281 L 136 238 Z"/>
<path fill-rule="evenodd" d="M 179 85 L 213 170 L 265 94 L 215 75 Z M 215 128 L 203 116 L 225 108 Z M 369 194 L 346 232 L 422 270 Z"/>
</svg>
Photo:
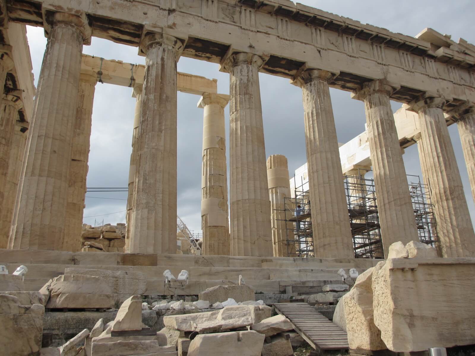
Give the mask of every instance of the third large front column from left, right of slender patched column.
<svg viewBox="0 0 475 356">
<path fill-rule="evenodd" d="M 262 122 L 260 56 L 235 53 L 229 72 L 230 255 L 272 256 L 266 148 Z"/>
</svg>

